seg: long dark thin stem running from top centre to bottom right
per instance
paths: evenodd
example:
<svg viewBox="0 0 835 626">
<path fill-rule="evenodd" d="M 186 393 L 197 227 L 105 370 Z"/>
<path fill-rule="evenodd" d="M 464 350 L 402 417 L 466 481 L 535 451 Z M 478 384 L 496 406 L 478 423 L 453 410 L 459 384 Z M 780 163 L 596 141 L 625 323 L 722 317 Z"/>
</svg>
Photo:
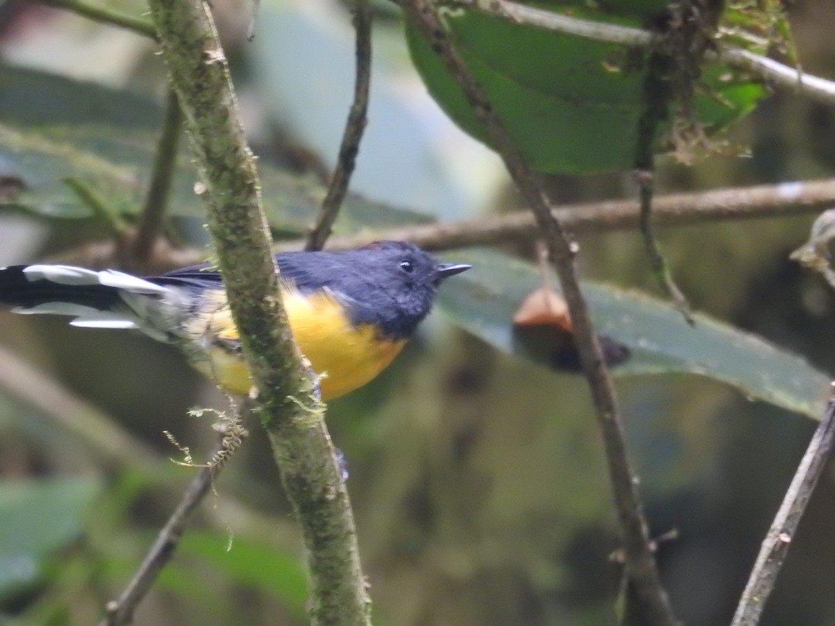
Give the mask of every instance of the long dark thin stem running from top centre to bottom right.
<svg viewBox="0 0 835 626">
<path fill-rule="evenodd" d="M 655 567 L 655 556 L 650 548 L 650 538 L 635 488 L 635 473 L 630 467 L 626 452 L 625 436 L 615 400 L 615 390 L 597 341 L 589 316 L 588 305 L 579 289 L 574 270 L 574 245 L 569 241 L 563 225 L 554 220 L 548 201 L 539 181 L 524 163 L 519 149 L 510 138 L 483 89 L 469 72 L 463 59 L 450 43 L 446 29 L 438 14 L 427 0 L 408 0 L 403 3 L 408 17 L 423 32 L 433 49 L 443 58 L 463 89 L 474 114 L 484 125 L 490 143 L 504 160 L 509 174 L 523 195 L 539 225 L 540 236 L 549 248 L 549 255 L 559 276 L 569 315 L 574 322 L 575 339 L 580 353 L 583 371 L 588 378 L 591 395 L 597 409 L 598 422 L 603 435 L 610 480 L 615 497 L 615 507 L 620 518 L 620 530 L 624 541 L 626 570 L 635 591 L 652 624 L 670 626 L 676 623 L 670 601 L 660 583 Z"/>
</svg>

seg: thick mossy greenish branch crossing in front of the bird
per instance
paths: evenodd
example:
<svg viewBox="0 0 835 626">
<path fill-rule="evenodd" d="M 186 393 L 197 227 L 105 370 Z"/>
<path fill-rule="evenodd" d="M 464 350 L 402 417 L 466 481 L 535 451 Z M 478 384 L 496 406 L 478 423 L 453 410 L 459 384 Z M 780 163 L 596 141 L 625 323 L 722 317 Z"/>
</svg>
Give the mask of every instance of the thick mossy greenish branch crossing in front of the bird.
<svg viewBox="0 0 835 626">
<path fill-rule="evenodd" d="M 229 68 L 208 5 L 150 0 L 200 174 L 220 271 L 253 396 L 308 550 L 313 623 L 369 623 L 347 490 L 316 381 L 296 350 L 278 290 L 255 159 L 238 119 Z"/>
</svg>

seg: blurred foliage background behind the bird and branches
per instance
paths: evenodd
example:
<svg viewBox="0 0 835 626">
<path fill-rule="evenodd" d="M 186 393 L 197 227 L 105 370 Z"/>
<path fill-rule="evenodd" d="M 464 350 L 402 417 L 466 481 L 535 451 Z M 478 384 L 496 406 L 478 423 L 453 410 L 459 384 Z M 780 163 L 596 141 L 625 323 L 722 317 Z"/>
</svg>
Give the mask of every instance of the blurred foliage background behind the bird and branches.
<svg viewBox="0 0 835 626">
<path fill-rule="evenodd" d="M 109 4 L 144 12 L 134 0 Z M 249 0 L 212 5 L 256 154 L 285 173 L 326 173 L 352 93 L 347 7 L 263 0 L 247 43 Z M 428 97 L 397 9 L 374 6 L 370 125 L 353 191 L 440 220 L 517 207 L 498 159 Z M 796 0 L 787 10 L 803 68 L 835 75 L 835 5 Z M 20 0 L 0 5 L 0 34 L 8 68 L 119 90 L 124 99 L 95 93 L 121 111 L 124 137 L 158 124 L 144 116 L 159 108 L 134 104 L 164 97 L 149 40 Z M 8 68 L 0 97 L 31 89 L 37 97 L 18 109 L 45 125 L 70 116 L 60 89 L 24 84 Z M 662 160 L 660 190 L 823 178 L 835 166 L 835 114 L 792 93 L 772 95 L 726 139 L 750 157 L 713 155 L 694 167 Z M 181 183 L 175 203 L 185 207 L 193 180 Z M 564 201 L 635 193 L 626 174 L 554 174 L 549 186 Z M 270 189 L 266 182 L 268 209 Z M 129 193 L 141 199 L 141 187 Z M 87 259 L 89 244 L 113 228 L 51 206 L 54 215 L 0 214 L 0 265 Z M 173 214 L 178 239 L 205 245 L 199 215 L 176 204 Z M 306 224 L 306 215 L 296 219 Z M 787 260 L 810 222 L 701 224 L 661 237 L 695 310 L 832 371 L 835 299 Z M 586 235 L 580 245 L 585 277 L 655 292 L 636 233 Z M 506 251 L 533 256 L 532 247 Z M 814 423 L 697 376 L 620 379 L 618 391 L 652 533 L 680 533 L 659 553 L 676 611 L 693 626 L 727 623 Z M 224 410 L 229 401 L 167 346 L 0 311 L 0 623 L 98 621 L 195 472 L 170 461 L 181 454 L 163 431 L 195 458 L 215 441 L 212 416 L 188 416 L 192 406 Z M 331 403 L 328 423 L 347 457 L 375 623 L 615 623 L 615 512 L 582 378 L 495 351 L 438 312 L 377 381 Z M 305 622 L 296 528 L 252 426 L 137 623 Z M 835 624 L 833 480 L 830 469 L 764 624 Z"/>
</svg>

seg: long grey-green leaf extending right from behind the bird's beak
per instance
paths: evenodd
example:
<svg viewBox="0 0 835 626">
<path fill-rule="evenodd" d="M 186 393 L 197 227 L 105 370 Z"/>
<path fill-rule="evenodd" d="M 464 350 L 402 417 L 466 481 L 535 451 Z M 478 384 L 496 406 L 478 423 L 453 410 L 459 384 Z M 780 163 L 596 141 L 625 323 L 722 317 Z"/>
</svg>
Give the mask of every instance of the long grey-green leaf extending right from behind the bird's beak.
<svg viewBox="0 0 835 626">
<path fill-rule="evenodd" d="M 473 269 L 456 276 L 454 289 L 440 290 L 443 310 L 499 350 L 549 366 L 549 337 L 521 341 L 511 321 L 522 301 L 542 286 L 539 272 L 490 250 L 461 252 L 454 260 Z M 709 316 L 696 314 L 696 326 L 689 326 L 681 312 L 646 295 L 590 283 L 583 290 L 598 332 L 630 350 L 630 358 L 612 368 L 613 376 L 707 376 L 747 397 L 820 419 L 829 379 L 802 358 Z"/>
</svg>

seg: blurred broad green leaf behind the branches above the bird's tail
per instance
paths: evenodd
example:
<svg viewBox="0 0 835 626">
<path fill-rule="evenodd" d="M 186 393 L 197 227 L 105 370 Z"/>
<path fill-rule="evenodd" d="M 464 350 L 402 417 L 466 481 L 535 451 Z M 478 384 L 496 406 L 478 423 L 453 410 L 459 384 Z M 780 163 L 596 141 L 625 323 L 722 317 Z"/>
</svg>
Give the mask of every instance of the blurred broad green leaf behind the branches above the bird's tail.
<svg viewBox="0 0 835 626">
<path fill-rule="evenodd" d="M 110 212 L 133 218 L 154 159 L 159 107 L 134 94 L 34 70 L 0 65 L 0 210 L 50 218 L 92 218 L 67 179 L 81 181 Z M 126 114 L 129 112 L 129 114 Z M 48 122 L 44 122 L 48 120 Z M 279 233 L 298 235 L 311 224 L 325 189 L 315 179 L 259 161 L 267 217 Z M 170 214 L 202 219 L 195 170 L 180 156 Z M 428 221 L 349 195 L 336 230 Z"/>
</svg>

